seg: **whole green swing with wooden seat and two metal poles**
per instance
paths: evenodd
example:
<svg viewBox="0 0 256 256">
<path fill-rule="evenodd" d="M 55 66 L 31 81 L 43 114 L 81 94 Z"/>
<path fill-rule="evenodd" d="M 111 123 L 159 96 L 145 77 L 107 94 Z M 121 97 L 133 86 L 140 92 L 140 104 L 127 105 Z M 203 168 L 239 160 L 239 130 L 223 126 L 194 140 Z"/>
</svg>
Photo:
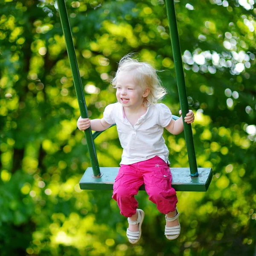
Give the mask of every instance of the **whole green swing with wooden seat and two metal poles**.
<svg viewBox="0 0 256 256">
<path fill-rule="evenodd" d="M 175 71 L 177 76 L 178 92 L 180 97 L 180 107 L 184 117 L 189 111 L 186 86 L 183 73 L 183 65 L 180 54 L 180 43 L 177 31 L 177 20 L 175 14 L 175 6 L 173 0 L 166 0 L 166 9 L 169 19 L 170 34 L 172 39 L 172 52 L 175 63 Z M 70 66 L 73 74 L 76 94 L 79 103 L 79 109 L 82 118 L 88 118 L 86 102 L 84 99 L 84 92 L 79 74 L 79 68 L 76 59 L 73 38 L 70 29 L 70 23 L 67 15 L 65 0 L 57 0 L 61 25 L 64 33 L 64 38 L 67 44 L 67 53 L 70 60 Z M 178 117 L 174 116 L 173 119 Z M 90 161 L 92 167 L 87 168 L 83 177 L 80 180 L 81 189 L 99 189 L 99 190 L 113 190 L 114 179 L 119 170 L 118 167 L 99 167 L 96 150 L 93 139 L 95 139 L 101 132 L 92 134 L 91 128 L 84 131 Z M 172 186 L 176 191 L 207 191 L 212 180 L 211 168 L 197 168 L 195 149 L 192 136 L 191 125 L 184 122 L 184 133 L 187 145 L 187 152 L 189 158 L 189 168 L 170 168 L 172 172 Z M 145 186 L 141 186 L 140 190 L 145 190 Z"/>
</svg>

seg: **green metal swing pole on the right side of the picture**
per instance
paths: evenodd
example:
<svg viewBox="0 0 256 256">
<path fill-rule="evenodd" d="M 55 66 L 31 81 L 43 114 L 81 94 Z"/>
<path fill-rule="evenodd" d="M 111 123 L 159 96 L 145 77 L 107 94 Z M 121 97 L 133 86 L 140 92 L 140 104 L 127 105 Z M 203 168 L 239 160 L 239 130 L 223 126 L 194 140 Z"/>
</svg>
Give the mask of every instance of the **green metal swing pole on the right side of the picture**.
<svg viewBox="0 0 256 256">
<path fill-rule="evenodd" d="M 178 92 L 180 98 L 180 107 L 182 111 L 185 140 L 187 145 L 187 152 L 189 157 L 189 168 L 192 177 L 198 177 L 198 169 L 195 158 L 195 148 L 193 142 L 192 128 L 190 124 L 184 122 L 186 114 L 189 112 L 189 105 L 187 101 L 186 85 L 184 79 L 184 71 L 180 52 L 180 41 L 177 29 L 177 20 L 175 14 L 174 0 L 166 0 L 166 9 L 169 20 L 170 34 L 172 39 L 172 52 L 175 64 L 175 71 L 177 77 Z"/>
</svg>

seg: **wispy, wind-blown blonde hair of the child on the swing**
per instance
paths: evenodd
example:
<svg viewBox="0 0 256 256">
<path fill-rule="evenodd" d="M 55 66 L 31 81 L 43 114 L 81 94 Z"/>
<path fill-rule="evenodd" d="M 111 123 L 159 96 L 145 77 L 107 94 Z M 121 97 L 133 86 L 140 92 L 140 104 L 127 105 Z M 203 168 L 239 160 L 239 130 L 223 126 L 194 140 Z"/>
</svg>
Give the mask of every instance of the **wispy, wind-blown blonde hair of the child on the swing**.
<svg viewBox="0 0 256 256">
<path fill-rule="evenodd" d="M 117 76 L 121 71 L 130 71 L 134 76 L 134 81 L 145 90 L 150 90 L 148 96 L 143 102 L 144 107 L 156 104 L 159 99 L 166 95 L 166 89 L 157 76 L 157 70 L 147 62 L 140 62 L 132 54 L 125 55 L 120 61 L 115 77 L 112 79 L 112 85 L 116 88 Z"/>
</svg>

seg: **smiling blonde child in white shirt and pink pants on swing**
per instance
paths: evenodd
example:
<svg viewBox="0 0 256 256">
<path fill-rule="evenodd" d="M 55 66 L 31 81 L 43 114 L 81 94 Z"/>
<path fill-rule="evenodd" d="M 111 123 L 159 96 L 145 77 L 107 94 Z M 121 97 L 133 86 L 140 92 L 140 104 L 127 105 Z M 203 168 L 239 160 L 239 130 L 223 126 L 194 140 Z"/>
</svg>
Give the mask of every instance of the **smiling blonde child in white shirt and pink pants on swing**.
<svg viewBox="0 0 256 256">
<path fill-rule="evenodd" d="M 123 148 L 121 167 L 113 185 L 113 199 L 117 201 L 122 215 L 128 218 L 128 240 L 135 244 L 141 236 L 144 212 L 134 198 L 145 183 L 149 200 L 165 214 L 165 235 L 176 239 L 180 234 L 177 196 L 172 188 L 169 169 L 169 151 L 163 139 L 163 128 L 171 134 L 183 131 L 182 117 L 174 121 L 172 113 L 164 104 L 157 104 L 166 90 L 161 86 L 156 70 L 148 63 L 125 56 L 119 62 L 112 81 L 116 88 L 117 102 L 105 108 L 102 119 L 81 119 L 77 126 L 84 131 L 103 131 L 116 124 Z M 181 114 L 181 111 L 179 112 Z M 194 122 L 191 110 L 185 122 Z"/>
</svg>

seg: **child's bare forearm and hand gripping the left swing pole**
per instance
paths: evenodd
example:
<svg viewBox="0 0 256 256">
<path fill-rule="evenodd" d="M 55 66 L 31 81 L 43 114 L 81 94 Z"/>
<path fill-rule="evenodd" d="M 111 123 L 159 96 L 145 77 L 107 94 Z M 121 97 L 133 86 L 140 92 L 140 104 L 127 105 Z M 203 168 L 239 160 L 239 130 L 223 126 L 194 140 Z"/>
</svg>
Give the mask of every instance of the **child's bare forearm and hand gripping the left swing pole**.
<svg viewBox="0 0 256 256">
<path fill-rule="evenodd" d="M 84 131 L 89 127 L 91 127 L 93 131 L 104 131 L 111 127 L 104 118 L 90 120 L 89 118 L 81 118 L 81 116 L 76 124 L 80 131 Z"/>
</svg>

